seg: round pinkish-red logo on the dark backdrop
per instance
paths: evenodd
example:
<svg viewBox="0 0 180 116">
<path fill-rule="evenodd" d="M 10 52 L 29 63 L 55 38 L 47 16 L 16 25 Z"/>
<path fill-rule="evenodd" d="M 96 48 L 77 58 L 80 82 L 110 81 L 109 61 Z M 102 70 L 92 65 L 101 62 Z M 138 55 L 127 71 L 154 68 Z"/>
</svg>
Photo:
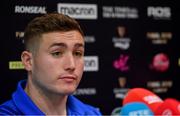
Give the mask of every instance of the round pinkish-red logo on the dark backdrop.
<svg viewBox="0 0 180 116">
<path fill-rule="evenodd" d="M 165 72 L 169 68 L 169 58 L 164 53 L 158 53 L 153 57 L 151 68 L 159 71 L 159 72 Z"/>
</svg>

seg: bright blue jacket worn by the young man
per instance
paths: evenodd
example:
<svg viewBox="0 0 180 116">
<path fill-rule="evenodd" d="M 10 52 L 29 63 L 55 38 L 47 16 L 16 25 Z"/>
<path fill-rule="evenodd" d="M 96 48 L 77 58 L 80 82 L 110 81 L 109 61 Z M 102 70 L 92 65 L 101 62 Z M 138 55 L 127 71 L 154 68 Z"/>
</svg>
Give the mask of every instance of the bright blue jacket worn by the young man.
<svg viewBox="0 0 180 116">
<path fill-rule="evenodd" d="M 0 115 L 45 115 L 25 93 L 26 81 L 20 81 L 12 99 L 0 105 Z M 68 115 L 101 115 L 94 107 L 70 95 L 67 100 Z"/>
</svg>

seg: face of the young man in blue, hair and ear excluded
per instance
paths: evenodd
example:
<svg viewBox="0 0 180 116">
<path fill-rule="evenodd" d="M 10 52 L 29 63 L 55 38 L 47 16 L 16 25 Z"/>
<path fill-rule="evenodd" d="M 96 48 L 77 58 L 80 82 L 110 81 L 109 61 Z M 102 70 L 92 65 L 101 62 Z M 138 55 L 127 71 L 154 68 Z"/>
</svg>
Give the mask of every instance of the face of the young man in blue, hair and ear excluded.
<svg viewBox="0 0 180 116">
<path fill-rule="evenodd" d="M 75 91 L 83 74 L 84 39 L 78 31 L 42 35 L 32 59 L 32 83 L 55 94 Z"/>
</svg>

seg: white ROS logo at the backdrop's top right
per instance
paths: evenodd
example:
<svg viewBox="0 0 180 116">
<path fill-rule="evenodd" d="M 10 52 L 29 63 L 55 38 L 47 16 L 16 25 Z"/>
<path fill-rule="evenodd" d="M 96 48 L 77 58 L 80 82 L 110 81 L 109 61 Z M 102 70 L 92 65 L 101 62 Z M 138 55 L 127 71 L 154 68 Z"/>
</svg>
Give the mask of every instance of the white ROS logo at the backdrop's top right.
<svg viewBox="0 0 180 116">
<path fill-rule="evenodd" d="M 170 19 L 171 9 L 170 7 L 153 7 L 149 6 L 147 8 L 148 17 L 153 17 L 154 19 Z"/>
</svg>

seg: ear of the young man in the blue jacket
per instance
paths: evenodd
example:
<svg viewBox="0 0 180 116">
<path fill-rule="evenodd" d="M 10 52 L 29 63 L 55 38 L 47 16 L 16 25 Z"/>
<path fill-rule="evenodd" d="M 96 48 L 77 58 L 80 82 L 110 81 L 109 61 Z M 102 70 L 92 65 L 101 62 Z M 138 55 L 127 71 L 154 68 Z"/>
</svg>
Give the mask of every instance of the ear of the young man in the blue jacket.
<svg viewBox="0 0 180 116">
<path fill-rule="evenodd" d="M 21 61 L 24 65 L 24 68 L 27 71 L 32 70 L 32 53 L 28 51 L 23 51 L 21 54 Z"/>
</svg>

